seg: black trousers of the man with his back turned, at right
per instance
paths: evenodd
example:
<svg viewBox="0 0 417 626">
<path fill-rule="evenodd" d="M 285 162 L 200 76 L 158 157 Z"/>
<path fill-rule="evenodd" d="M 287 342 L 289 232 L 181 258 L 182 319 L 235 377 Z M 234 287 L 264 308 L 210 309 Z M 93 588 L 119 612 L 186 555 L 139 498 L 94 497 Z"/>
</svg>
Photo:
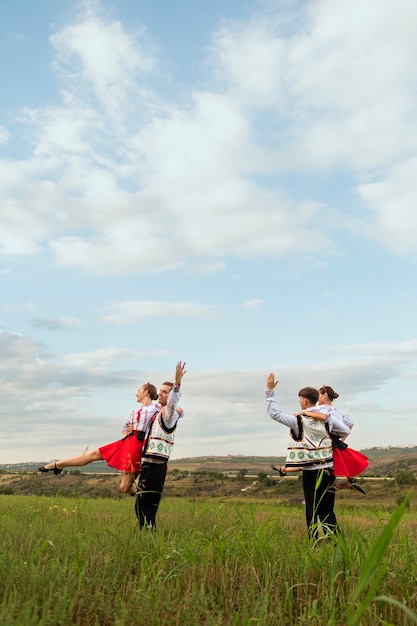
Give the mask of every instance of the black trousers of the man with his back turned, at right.
<svg viewBox="0 0 417 626">
<path fill-rule="evenodd" d="M 318 535 L 318 522 L 325 533 L 337 532 L 334 513 L 335 493 L 331 489 L 335 482 L 333 469 L 303 470 L 303 490 L 306 504 L 306 522 L 309 535 Z"/>
</svg>

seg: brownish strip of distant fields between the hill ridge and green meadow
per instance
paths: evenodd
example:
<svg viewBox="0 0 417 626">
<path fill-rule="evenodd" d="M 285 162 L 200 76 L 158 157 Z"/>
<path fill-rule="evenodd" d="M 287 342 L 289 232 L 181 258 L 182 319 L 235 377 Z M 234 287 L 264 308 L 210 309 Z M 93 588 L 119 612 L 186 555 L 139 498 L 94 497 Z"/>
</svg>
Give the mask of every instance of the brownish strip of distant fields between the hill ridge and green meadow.
<svg viewBox="0 0 417 626">
<path fill-rule="evenodd" d="M 174 465 L 174 464 L 173 464 Z M 78 470 L 60 476 L 39 472 L 0 473 L 0 494 L 111 498 L 132 500 L 119 491 L 120 474 L 82 473 Z M 374 507 L 392 507 L 407 493 L 414 493 L 416 485 L 401 485 L 394 479 L 360 479 L 366 495 L 345 490 L 338 493 L 337 501 L 344 506 L 366 504 Z M 237 471 L 210 471 L 179 469 L 170 465 L 164 496 L 177 498 L 222 499 L 272 499 L 277 502 L 302 506 L 303 492 L 299 477 L 280 478 L 269 469 L 269 474 L 259 472 L 239 475 Z M 413 500 L 412 500 L 413 502 Z"/>
</svg>

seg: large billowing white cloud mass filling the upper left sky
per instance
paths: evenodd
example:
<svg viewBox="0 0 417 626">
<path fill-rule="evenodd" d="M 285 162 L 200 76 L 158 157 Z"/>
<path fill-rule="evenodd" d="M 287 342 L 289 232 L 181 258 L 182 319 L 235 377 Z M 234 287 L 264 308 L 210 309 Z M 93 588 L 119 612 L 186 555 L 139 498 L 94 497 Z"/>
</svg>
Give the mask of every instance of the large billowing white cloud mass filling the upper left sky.
<svg viewBox="0 0 417 626">
<path fill-rule="evenodd" d="M 223 256 L 284 254 L 314 232 L 318 204 L 251 180 L 262 153 L 233 97 L 195 92 L 188 108 L 161 106 L 143 90 L 154 64 L 143 33 L 85 6 L 51 37 L 63 104 L 22 113 L 33 157 L 3 170 L 4 253 L 47 243 L 58 264 L 97 273 L 212 271 Z"/>
</svg>

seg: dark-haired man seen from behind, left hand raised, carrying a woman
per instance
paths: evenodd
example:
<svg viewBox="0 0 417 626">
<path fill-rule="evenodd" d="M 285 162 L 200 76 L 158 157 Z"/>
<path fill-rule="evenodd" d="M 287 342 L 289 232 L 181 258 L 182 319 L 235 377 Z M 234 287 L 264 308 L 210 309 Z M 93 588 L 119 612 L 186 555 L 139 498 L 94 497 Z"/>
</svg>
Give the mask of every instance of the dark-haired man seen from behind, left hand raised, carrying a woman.
<svg viewBox="0 0 417 626">
<path fill-rule="evenodd" d="M 332 441 L 329 433 L 346 437 L 350 430 L 334 416 L 329 416 L 325 425 L 319 420 L 283 413 L 277 405 L 274 389 L 278 381 L 273 373 L 269 374 L 266 384 L 266 406 L 269 417 L 291 429 L 291 448 L 293 461 L 302 468 L 306 522 L 309 535 L 318 536 L 320 521 L 326 533 L 337 531 L 334 513 L 335 493 L 332 489 L 335 476 L 333 473 Z M 299 392 L 302 411 L 314 410 L 318 400 L 318 391 L 313 387 L 304 387 Z M 288 459 L 287 459 L 288 464 Z"/>
</svg>

